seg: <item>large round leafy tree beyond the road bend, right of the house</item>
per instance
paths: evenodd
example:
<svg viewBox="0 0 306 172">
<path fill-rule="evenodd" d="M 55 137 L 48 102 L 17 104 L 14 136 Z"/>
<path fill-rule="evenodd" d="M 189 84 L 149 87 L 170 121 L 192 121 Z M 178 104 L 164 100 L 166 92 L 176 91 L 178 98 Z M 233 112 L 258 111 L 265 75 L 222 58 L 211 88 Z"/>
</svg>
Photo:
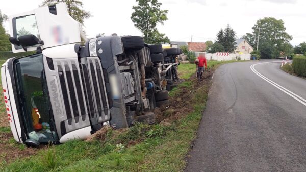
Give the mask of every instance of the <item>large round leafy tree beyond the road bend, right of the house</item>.
<svg viewBox="0 0 306 172">
<path fill-rule="evenodd" d="M 281 52 L 288 51 L 289 42 L 292 40 L 292 36 L 286 33 L 283 20 L 277 20 L 273 17 L 265 17 L 259 19 L 252 27 L 252 33 L 246 33 L 243 38 L 247 39 L 253 47 L 257 46 L 258 31 L 260 29 L 259 36 L 259 50 L 265 56 L 263 58 L 275 58 L 280 55 Z M 269 45 L 270 47 L 265 47 Z M 263 52 L 263 50 L 267 52 Z"/>
</svg>

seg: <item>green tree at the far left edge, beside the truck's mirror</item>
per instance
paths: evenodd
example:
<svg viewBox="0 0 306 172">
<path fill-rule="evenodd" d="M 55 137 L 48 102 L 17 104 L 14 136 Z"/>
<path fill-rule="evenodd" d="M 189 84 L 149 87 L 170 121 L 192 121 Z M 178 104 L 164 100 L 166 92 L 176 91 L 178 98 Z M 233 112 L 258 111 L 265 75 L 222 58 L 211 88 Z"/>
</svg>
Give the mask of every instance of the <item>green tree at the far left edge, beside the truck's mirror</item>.
<svg viewBox="0 0 306 172">
<path fill-rule="evenodd" d="M 3 27 L 3 22 L 6 21 L 8 17 L 1 13 L 0 10 L 0 51 L 11 51 L 12 45 L 9 41 L 9 35 L 5 32 Z"/>
</svg>

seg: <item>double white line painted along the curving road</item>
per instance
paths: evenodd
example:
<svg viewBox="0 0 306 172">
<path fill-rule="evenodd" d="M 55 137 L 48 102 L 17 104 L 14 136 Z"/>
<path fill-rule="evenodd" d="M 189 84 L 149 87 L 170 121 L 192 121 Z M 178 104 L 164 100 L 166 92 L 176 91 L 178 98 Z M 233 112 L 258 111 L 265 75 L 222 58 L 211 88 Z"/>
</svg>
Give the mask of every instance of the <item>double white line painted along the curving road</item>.
<svg viewBox="0 0 306 172">
<path fill-rule="evenodd" d="M 265 62 L 265 63 L 271 63 L 271 62 Z M 264 75 L 262 75 L 260 72 L 258 72 L 254 66 L 258 65 L 258 64 L 263 64 L 263 63 L 257 63 L 257 64 L 253 64 L 250 66 L 251 70 L 258 75 L 260 78 L 264 79 L 265 81 L 267 81 L 268 83 L 270 83 L 271 85 L 273 85 L 274 87 L 278 88 L 279 90 L 283 91 L 284 93 L 290 95 L 293 99 L 297 100 L 298 102 L 300 102 L 301 104 L 306 106 L 306 100 L 303 99 L 301 96 L 295 94 L 294 92 L 282 87 L 281 85 L 273 82 L 272 80 L 268 79 L 267 77 L 265 77 Z"/>
</svg>

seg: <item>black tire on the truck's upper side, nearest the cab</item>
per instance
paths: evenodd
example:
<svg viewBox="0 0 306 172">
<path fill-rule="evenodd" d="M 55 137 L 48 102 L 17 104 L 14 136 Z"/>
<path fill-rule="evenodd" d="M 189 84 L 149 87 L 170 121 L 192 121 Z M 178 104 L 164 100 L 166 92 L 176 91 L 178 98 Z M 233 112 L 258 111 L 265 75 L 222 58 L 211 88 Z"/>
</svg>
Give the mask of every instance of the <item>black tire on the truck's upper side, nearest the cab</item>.
<svg viewBox="0 0 306 172">
<path fill-rule="evenodd" d="M 124 50 L 140 50 L 144 47 L 144 40 L 141 36 L 121 37 Z"/>
</svg>

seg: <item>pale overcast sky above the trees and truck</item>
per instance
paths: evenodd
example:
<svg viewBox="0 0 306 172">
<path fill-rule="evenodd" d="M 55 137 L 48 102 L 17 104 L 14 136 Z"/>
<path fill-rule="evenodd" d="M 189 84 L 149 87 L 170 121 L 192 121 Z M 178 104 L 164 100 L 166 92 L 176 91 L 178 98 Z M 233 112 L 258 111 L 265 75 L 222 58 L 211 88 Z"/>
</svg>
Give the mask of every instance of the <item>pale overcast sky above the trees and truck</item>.
<svg viewBox="0 0 306 172">
<path fill-rule="evenodd" d="M 240 38 L 252 31 L 256 21 L 275 17 L 285 22 L 287 33 L 293 36 L 291 43 L 306 41 L 306 1 L 303 0 L 159 0 L 161 8 L 169 10 L 168 20 L 158 26 L 171 41 L 214 41 L 216 34 L 227 24 Z M 31 3 L 29 3 L 31 2 Z M 41 0 L 10 0 L 2 3 L 2 13 L 12 15 L 32 10 Z M 85 20 L 88 37 L 98 33 L 111 35 L 141 35 L 130 19 L 135 0 L 83 1 L 84 9 L 93 15 Z M 8 23 L 6 23 L 8 30 Z"/>
</svg>

